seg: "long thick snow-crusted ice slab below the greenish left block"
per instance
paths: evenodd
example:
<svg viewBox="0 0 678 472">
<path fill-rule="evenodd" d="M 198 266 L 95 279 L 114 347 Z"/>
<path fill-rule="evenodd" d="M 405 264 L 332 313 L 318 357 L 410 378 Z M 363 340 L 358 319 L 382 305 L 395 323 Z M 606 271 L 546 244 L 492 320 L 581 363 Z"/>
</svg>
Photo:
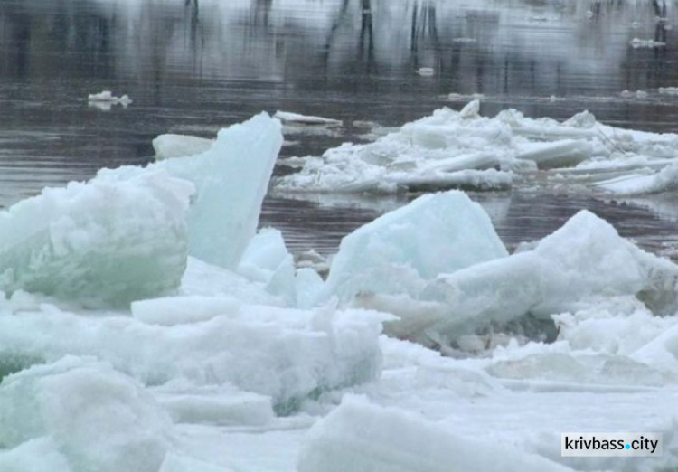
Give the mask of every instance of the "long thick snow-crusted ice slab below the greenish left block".
<svg viewBox="0 0 678 472">
<path fill-rule="evenodd" d="M 21 368 L 91 355 L 145 385 L 231 384 L 267 396 L 278 412 L 380 372 L 383 314 L 174 297 L 139 302 L 134 315 L 87 317 L 42 305 L 0 316 L 0 359 Z"/>
</svg>

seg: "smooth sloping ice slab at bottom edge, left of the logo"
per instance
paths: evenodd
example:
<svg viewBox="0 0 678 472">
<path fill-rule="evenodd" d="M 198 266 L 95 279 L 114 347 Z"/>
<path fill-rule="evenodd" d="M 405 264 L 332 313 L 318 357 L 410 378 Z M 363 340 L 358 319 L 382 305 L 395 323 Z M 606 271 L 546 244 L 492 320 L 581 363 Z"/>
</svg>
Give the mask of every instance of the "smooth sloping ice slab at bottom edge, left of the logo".
<svg viewBox="0 0 678 472">
<path fill-rule="evenodd" d="M 308 432 L 299 472 L 566 472 L 510 443 L 467 438 L 410 412 L 347 397 Z"/>
</svg>

